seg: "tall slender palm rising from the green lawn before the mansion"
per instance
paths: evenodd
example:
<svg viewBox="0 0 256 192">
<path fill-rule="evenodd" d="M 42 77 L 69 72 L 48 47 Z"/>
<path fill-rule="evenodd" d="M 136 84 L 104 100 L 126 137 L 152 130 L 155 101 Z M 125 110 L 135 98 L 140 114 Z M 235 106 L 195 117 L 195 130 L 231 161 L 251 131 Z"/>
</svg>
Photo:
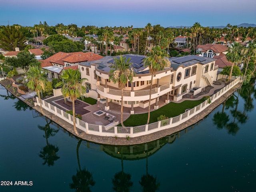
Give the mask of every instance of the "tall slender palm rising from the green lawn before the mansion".
<svg viewBox="0 0 256 192">
<path fill-rule="evenodd" d="M 151 102 L 151 91 L 152 91 L 152 83 L 153 76 L 157 71 L 163 70 L 165 67 L 170 67 L 170 61 L 168 60 L 168 54 L 166 50 L 162 50 L 160 46 L 153 47 L 149 52 L 148 57 L 144 58 L 144 66 L 149 68 L 149 72 L 151 74 L 151 83 L 150 83 L 150 93 L 149 93 L 149 105 L 148 105 L 148 121 L 150 119 L 150 102 Z"/>
</svg>

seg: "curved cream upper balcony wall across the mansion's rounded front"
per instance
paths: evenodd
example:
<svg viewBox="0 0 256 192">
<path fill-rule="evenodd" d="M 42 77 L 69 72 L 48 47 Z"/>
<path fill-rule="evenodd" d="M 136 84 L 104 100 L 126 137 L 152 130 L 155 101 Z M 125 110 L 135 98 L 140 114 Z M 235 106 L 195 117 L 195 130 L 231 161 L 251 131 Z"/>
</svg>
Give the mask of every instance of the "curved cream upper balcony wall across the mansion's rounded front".
<svg viewBox="0 0 256 192">
<path fill-rule="evenodd" d="M 117 99 L 120 100 L 120 96 L 122 95 L 122 91 L 119 89 L 115 89 L 114 87 L 108 87 L 105 88 L 104 86 L 97 83 L 97 92 L 106 97 L 111 99 Z M 163 94 L 166 94 L 167 92 L 170 92 L 170 84 L 164 84 L 162 86 L 156 87 L 156 84 L 153 85 L 151 90 L 151 98 L 157 98 L 158 96 L 161 96 Z M 127 101 L 138 101 L 138 100 L 148 100 L 149 94 L 150 94 L 150 87 L 146 87 L 141 90 L 135 90 L 135 91 L 128 91 L 123 90 L 124 94 L 124 100 Z"/>
</svg>

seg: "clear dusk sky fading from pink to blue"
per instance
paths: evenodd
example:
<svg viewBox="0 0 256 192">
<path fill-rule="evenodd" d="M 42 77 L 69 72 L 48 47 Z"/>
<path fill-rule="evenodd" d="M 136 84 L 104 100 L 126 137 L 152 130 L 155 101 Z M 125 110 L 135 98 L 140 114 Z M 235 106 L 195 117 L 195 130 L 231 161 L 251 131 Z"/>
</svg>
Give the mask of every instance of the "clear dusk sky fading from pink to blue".
<svg viewBox="0 0 256 192">
<path fill-rule="evenodd" d="M 8 0 L 0 25 L 34 26 L 41 21 L 81 26 L 226 26 L 256 24 L 255 0 Z"/>
</svg>

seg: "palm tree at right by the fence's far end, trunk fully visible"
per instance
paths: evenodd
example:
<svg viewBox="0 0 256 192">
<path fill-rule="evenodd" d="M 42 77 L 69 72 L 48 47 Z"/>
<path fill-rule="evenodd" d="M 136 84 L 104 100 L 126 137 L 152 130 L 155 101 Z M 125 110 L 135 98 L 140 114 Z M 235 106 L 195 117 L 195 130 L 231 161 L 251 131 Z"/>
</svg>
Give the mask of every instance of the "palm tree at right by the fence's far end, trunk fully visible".
<svg viewBox="0 0 256 192">
<path fill-rule="evenodd" d="M 228 53 L 226 54 L 226 58 L 229 62 L 232 62 L 230 74 L 228 76 L 228 82 L 230 82 L 234 64 L 236 64 L 238 61 L 242 59 L 241 50 L 242 45 L 236 42 L 234 44 L 231 44 L 230 47 L 228 47 Z"/>
</svg>

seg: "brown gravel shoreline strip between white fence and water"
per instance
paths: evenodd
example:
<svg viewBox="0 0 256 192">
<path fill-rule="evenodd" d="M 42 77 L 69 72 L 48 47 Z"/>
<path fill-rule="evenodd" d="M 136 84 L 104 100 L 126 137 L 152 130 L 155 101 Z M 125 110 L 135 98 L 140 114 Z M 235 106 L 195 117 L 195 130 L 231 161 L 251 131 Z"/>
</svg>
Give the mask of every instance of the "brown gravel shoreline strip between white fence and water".
<svg viewBox="0 0 256 192">
<path fill-rule="evenodd" d="M 0 82 L 2 84 L 2 82 Z M 189 126 L 192 126 L 193 124 L 196 124 L 196 122 L 202 120 L 205 116 L 210 114 L 212 110 L 214 110 L 216 107 L 218 107 L 220 104 L 222 104 L 230 95 L 232 95 L 238 87 L 240 87 L 241 83 L 238 83 L 236 86 L 234 86 L 232 89 L 230 89 L 228 92 L 226 92 L 224 95 L 222 95 L 220 98 L 218 98 L 216 101 L 210 104 L 204 111 L 200 112 L 194 118 L 190 118 L 188 121 L 180 124 L 179 126 L 176 126 L 174 128 L 169 128 L 166 130 L 160 130 L 158 132 L 148 134 L 145 136 L 139 136 L 134 138 L 129 138 L 127 140 L 126 138 L 114 138 L 114 137 L 106 137 L 106 136 L 95 136 L 91 134 L 86 134 L 85 132 L 81 132 L 79 135 L 76 135 L 74 132 L 74 126 L 72 124 L 67 124 L 66 121 L 62 120 L 58 116 L 44 110 L 45 116 L 49 118 L 50 120 L 56 122 L 56 124 L 62 126 L 65 130 L 72 133 L 75 137 L 81 138 L 83 140 L 87 140 L 89 142 L 94 142 L 97 144 L 106 144 L 106 145 L 116 145 L 116 146 L 125 146 L 125 145 L 135 145 L 135 144 L 142 144 L 151 142 L 157 139 L 160 139 L 162 137 L 174 134 L 180 130 L 183 130 Z M 4 84 L 2 84 L 11 94 L 16 96 L 13 92 L 11 92 Z M 18 98 L 18 96 L 16 96 Z M 19 98 L 18 98 L 19 99 Z M 24 101 L 25 102 L 25 101 Z M 30 107 L 32 107 L 34 110 L 38 111 L 41 114 L 40 106 L 31 106 L 28 102 L 25 102 Z M 79 128 L 78 132 L 79 132 Z"/>
</svg>

